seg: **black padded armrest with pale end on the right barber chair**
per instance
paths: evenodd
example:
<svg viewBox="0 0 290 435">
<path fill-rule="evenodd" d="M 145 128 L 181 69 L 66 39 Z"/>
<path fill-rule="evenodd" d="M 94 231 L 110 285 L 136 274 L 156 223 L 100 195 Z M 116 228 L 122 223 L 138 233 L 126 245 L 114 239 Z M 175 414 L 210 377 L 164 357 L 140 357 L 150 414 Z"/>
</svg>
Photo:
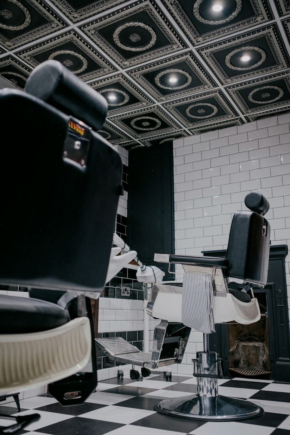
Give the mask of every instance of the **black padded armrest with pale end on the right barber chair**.
<svg viewBox="0 0 290 435">
<path fill-rule="evenodd" d="M 208 268 L 228 269 L 230 261 L 218 257 L 193 257 L 192 255 L 154 254 L 154 261 L 159 263 L 190 264 Z"/>
</svg>

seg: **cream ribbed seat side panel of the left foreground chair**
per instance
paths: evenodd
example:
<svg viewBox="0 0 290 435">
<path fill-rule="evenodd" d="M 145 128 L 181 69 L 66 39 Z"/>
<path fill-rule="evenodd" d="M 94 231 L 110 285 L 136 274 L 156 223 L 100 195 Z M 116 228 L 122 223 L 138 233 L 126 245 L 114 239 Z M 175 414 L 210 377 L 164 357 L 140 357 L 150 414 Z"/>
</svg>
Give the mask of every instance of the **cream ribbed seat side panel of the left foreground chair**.
<svg viewBox="0 0 290 435">
<path fill-rule="evenodd" d="M 0 395 L 73 375 L 87 365 L 90 353 L 87 317 L 48 331 L 0 335 Z"/>
</svg>

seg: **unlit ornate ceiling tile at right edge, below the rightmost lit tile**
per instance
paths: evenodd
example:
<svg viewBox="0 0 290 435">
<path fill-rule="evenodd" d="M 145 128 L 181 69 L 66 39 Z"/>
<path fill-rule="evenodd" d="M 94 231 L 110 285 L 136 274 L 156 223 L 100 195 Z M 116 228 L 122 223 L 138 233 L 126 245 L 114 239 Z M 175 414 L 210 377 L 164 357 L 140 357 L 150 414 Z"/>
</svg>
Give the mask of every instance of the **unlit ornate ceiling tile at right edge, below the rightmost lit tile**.
<svg viewBox="0 0 290 435">
<path fill-rule="evenodd" d="M 245 84 L 228 87 L 227 91 L 244 114 L 273 110 L 290 104 L 290 72 L 275 74 Z"/>
</svg>

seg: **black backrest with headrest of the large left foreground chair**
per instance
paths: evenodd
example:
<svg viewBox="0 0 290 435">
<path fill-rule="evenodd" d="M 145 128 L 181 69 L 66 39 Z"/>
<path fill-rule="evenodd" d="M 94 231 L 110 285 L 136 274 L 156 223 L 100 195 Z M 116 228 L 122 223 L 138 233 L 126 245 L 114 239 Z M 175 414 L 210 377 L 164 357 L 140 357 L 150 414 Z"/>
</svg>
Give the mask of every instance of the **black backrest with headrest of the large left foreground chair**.
<svg viewBox="0 0 290 435">
<path fill-rule="evenodd" d="M 48 61 L 27 93 L 0 91 L 0 110 L 0 284 L 100 291 L 122 177 L 119 154 L 92 130 L 106 100 Z"/>
</svg>

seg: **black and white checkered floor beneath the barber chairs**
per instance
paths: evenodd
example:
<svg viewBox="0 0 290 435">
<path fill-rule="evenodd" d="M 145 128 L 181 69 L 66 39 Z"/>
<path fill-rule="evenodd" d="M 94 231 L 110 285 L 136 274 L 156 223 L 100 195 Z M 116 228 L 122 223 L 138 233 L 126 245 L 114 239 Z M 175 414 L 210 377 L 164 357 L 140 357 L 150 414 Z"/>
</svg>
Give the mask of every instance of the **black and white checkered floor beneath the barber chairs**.
<svg viewBox="0 0 290 435">
<path fill-rule="evenodd" d="M 157 414 L 153 406 L 165 398 L 193 394 L 195 378 L 153 373 L 140 381 L 129 375 L 98 383 L 83 405 L 63 408 L 50 395 L 20 400 L 20 415 L 37 412 L 38 422 L 25 435 L 290 435 L 290 384 L 241 378 L 223 379 L 219 394 L 260 405 L 261 417 L 240 422 L 196 422 Z M 0 406 L 1 414 L 17 414 L 15 402 Z M 0 419 L 0 426 L 11 424 Z"/>
</svg>

